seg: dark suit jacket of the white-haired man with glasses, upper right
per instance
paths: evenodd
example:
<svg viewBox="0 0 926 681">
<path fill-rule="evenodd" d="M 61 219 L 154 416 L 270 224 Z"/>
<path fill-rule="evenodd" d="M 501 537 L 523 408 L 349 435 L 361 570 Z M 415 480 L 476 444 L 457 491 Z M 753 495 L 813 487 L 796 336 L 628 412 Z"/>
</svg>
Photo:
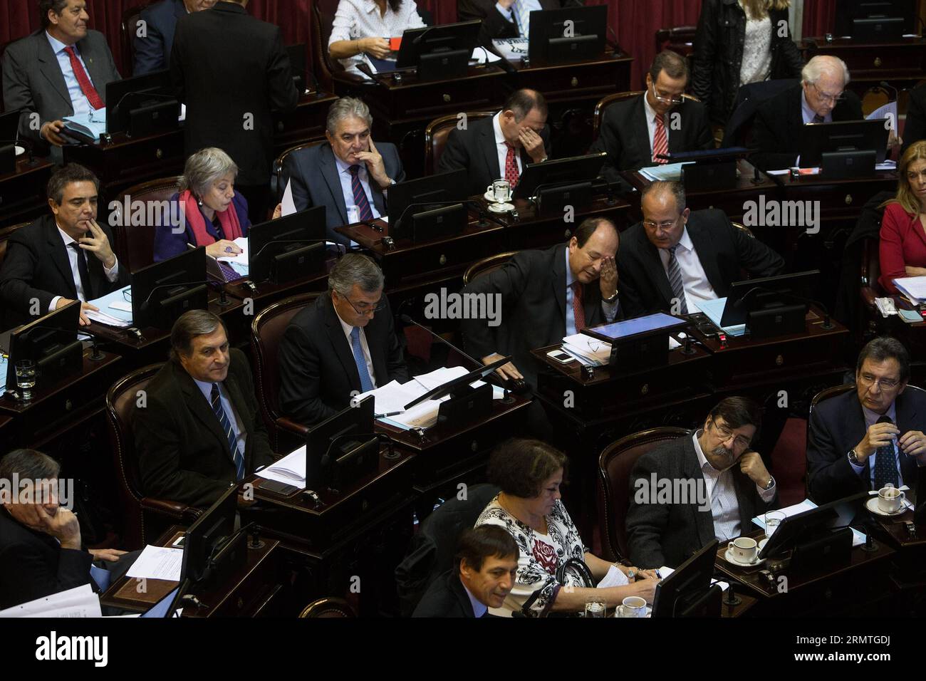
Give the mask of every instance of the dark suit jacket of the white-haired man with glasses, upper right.
<svg viewBox="0 0 926 681">
<path fill-rule="evenodd" d="M 773 96 L 760 107 L 753 125 L 751 148 L 758 149 L 749 162 L 761 170 L 782 170 L 795 165 L 800 149 L 801 128 L 804 125 L 801 94 L 803 86 Z M 832 109 L 832 120 L 862 120 L 862 105 L 851 90 L 845 91 L 845 102 Z"/>
</svg>

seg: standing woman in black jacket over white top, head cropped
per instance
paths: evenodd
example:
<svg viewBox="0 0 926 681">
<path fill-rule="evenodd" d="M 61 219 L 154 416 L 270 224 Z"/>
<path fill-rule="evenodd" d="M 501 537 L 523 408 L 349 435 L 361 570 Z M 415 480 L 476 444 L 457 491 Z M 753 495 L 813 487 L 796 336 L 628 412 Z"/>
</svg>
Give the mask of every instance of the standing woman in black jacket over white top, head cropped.
<svg viewBox="0 0 926 681">
<path fill-rule="evenodd" d="M 711 123 L 726 125 L 740 85 L 799 78 L 790 0 L 704 0 L 694 34 L 692 89 Z"/>
</svg>

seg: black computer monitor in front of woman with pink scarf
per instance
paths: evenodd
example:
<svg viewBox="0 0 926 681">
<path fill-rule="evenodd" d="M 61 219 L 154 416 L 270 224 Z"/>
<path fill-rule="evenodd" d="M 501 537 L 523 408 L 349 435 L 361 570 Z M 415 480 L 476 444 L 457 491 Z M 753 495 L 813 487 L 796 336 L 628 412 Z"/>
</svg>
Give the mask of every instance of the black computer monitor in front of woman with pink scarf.
<svg viewBox="0 0 926 681">
<path fill-rule="evenodd" d="M 325 263 L 325 207 L 313 206 L 247 231 L 247 277 L 283 284 Z"/>
</svg>

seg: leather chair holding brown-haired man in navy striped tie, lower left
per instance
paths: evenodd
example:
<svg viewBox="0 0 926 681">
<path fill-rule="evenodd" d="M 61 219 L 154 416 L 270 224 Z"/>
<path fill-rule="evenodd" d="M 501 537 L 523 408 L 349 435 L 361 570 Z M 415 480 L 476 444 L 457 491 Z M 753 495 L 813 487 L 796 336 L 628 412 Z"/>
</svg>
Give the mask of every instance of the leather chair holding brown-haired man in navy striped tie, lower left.
<svg viewBox="0 0 926 681">
<path fill-rule="evenodd" d="M 202 513 L 201 509 L 177 501 L 146 497 L 141 490 L 131 420 L 139 399 L 138 392 L 144 390 L 162 366 L 149 364 L 131 372 L 106 392 L 106 422 L 109 425 L 116 476 L 119 479 L 122 517 L 125 520 L 123 549 L 142 549 L 170 525 L 188 525 Z"/>
</svg>

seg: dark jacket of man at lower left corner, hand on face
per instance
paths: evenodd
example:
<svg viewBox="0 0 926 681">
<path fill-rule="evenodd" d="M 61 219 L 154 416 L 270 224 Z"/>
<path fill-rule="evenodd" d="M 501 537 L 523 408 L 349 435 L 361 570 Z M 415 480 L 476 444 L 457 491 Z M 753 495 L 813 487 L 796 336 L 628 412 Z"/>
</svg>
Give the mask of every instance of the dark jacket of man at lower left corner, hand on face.
<svg viewBox="0 0 926 681">
<path fill-rule="evenodd" d="M 0 610 L 92 584 L 93 560 L 85 550 L 62 549 L 55 537 L 19 524 L 0 506 Z"/>
</svg>

